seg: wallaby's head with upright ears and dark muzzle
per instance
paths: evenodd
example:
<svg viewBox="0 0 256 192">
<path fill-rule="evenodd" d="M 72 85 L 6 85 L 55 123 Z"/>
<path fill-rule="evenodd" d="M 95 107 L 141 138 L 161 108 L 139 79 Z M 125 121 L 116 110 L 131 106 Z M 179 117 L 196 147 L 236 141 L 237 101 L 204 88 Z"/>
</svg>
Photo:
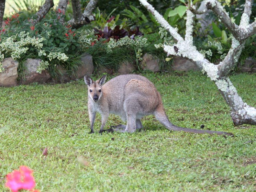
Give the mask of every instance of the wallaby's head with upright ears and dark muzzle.
<svg viewBox="0 0 256 192">
<path fill-rule="evenodd" d="M 97 81 L 93 81 L 92 78 L 89 76 L 85 76 L 85 84 L 88 86 L 88 96 L 91 98 L 94 102 L 97 102 L 101 95 L 102 95 L 102 85 L 105 82 L 107 75 L 103 75 L 100 79 Z"/>
</svg>

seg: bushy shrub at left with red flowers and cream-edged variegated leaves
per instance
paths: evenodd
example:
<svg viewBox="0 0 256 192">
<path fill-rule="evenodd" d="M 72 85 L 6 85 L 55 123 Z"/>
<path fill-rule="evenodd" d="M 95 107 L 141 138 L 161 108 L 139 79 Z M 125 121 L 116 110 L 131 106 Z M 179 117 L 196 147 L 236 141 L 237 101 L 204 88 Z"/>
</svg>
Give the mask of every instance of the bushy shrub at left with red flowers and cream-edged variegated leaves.
<svg viewBox="0 0 256 192">
<path fill-rule="evenodd" d="M 22 61 L 27 57 L 42 59 L 37 72 L 49 69 L 52 77 L 56 78 L 61 75 L 57 69 L 60 65 L 68 75 L 74 75 L 80 64 L 80 41 L 75 30 L 68 24 L 61 24 L 53 11 L 49 13 L 50 19 L 44 18 L 35 25 L 31 19 L 19 20 L 20 14 L 23 13 L 16 13 L 5 21 L 6 27 L 0 36 L 4 57 L 11 56 L 20 61 L 19 76 L 22 76 L 24 68 Z"/>
</svg>

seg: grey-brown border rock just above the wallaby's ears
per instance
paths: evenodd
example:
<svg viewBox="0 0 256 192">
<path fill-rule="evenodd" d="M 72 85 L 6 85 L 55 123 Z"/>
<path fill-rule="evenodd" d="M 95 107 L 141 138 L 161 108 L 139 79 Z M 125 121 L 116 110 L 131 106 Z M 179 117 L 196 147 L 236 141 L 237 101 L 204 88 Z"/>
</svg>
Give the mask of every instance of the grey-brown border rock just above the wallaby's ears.
<svg viewBox="0 0 256 192">
<path fill-rule="evenodd" d="M 92 62 L 92 56 L 89 54 L 83 54 L 81 57 L 82 64 L 78 66 L 76 71 L 76 77 L 78 79 L 84 77 L 85 75 L 91 75 L 94 72 L 94 66 Z"/>
</svg>

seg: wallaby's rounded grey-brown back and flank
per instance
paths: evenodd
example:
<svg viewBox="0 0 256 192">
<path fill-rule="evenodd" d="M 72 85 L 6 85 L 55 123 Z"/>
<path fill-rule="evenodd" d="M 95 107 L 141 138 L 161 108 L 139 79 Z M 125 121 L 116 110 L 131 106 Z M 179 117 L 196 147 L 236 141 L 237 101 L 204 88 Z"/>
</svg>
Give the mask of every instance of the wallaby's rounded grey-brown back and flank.
<svg viewBox="0 0 256 192">
<path fill-rule="evenodd" d="M 122 108 L 125 104 L 131 105 L 134 112 L 141 115 L 153 114 L 159 102 L 162 103 L 154 84 L 140 75 L 117 76 L 106 82 L 102 86 L 102 90 L 111 105 L 118 104 Z M 136 106 L 135 103 L 139 103 L 139 105 Z M 139 109 L 135 109 L 136 107 Z"/>
</svg>

